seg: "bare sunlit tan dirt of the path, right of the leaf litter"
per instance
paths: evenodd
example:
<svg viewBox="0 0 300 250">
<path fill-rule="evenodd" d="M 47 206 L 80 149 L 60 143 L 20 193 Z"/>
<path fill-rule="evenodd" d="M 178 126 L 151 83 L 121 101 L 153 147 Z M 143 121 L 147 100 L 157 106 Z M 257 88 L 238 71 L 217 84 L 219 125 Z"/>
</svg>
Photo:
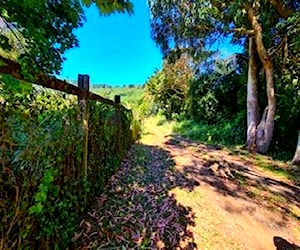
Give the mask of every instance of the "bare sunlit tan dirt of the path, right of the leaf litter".
<svg viewBox="0 0 300 250">
<path fill-rule="evenodd" d="M 251 158 L 166 134 L 153 124 L 147 131 L 145 143 L 167 150 L 176 170 L 195 183 L 192 194 L 171 192 L 195 213 L 190 230 L 198 249 L 300 249 L 299 186 L 259 169 Z M 253 197 L 251 189 L 262 194 Z"/>
</svg>

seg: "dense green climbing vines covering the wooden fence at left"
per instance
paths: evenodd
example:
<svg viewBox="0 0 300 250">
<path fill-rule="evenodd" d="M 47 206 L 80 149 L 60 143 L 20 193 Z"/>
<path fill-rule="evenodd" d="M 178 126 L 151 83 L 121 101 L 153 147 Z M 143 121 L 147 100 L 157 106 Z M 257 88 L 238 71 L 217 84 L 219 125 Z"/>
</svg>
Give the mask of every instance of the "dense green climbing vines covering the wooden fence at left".
<svg viewBox="0 0 300 250">
<path fill-rule="evenodd" d="M 0 80 L 2 247 L 66 249 L 87 201 L 101 192 L 132 142 L 131 112 L 89 102 L 85 176 L 77 100 Z"/>
</svg>

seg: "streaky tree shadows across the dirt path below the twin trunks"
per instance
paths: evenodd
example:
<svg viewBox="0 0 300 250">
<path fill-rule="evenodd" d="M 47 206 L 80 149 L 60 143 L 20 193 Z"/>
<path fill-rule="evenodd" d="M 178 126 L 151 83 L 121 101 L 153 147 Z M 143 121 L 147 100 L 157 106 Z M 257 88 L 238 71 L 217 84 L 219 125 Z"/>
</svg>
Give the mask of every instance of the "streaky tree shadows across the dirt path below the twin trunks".
<svg viewBox="0 0 300 250">
<path fill-rule="evenodd" d="M 272 175 L 260 172 L 252 162 L 223 151 L 220 147 L 197 144 L 180 136 L 171 136 L 165 144 L 172 151 L 189 150 L 192 164 L 185 165 L 182 173 L 189 176 L 192 182 L 209 184 L 224 196 L 241 198 L 278 210 L 282 218 L 292 216 L 300 219 L 298 186 L 272 178 Z M 251 213 L 251 208 L 244 209 Z M 242 212 L 230 207 L 227 210 L 232 213 Z"/>
</svg>

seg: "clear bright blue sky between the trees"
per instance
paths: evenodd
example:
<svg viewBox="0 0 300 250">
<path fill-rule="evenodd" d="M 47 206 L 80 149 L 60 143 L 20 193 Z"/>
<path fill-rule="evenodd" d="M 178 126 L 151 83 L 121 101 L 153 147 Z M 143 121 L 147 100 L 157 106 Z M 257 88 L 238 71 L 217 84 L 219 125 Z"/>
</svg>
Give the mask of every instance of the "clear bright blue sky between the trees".
<svg viewBox="0 0 300 250">
<path fill-rule="evenodd" d="M 161 68 L 160 49 L 150 37 L 150 14 L 146 0 L 133 0 L 134 14 L 100 16 L 92 6 L 87 21 L 75 31 L 79 48 L 66 52 L 60 78 L 76 80 L 90 75 L 91 83 L 143 84 Z"/>
</svg>

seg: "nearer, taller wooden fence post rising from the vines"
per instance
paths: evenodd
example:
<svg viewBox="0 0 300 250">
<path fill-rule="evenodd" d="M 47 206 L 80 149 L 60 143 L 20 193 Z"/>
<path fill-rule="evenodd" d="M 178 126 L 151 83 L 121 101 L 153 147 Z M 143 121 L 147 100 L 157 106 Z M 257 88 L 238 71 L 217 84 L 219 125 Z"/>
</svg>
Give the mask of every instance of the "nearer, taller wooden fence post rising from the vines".
<svg viewBox="0 0 300 250">
<path fill-rule="evenodd" d="M 89 112 L 88 112 L 88 95 L 90 89 L 90 77 L 88 75 L 78 75 L 78 87 L 82 90 L 85 90 L 85 94 L 83 97 L 78 97 L 78 102 L 81 107 L 82 112 L 82 121 L 83 121 L 83 159 L 82 159 L 82 167 L 83 167 L 83 177 L 84 183 L 86 184 L 87 175 L 88 175 L 88 143 L 89 143 Z M 86 204 L 86 192 L 84 195 L 84 203 Z"/>
</svg>

